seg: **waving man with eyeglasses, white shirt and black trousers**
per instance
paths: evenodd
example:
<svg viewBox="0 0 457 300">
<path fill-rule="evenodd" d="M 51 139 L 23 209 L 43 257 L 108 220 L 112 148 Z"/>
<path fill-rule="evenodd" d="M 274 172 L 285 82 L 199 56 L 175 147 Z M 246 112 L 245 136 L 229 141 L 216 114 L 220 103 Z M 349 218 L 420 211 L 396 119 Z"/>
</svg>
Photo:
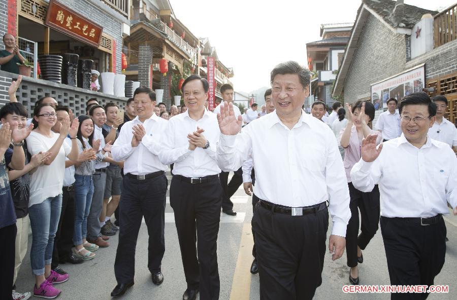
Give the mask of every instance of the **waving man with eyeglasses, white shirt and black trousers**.
<svg viewBox="0 0 457 300">
<path fill-rule="evenodd" d="M 457 214 L 457 159 L 449 146 L 427 135 L 436 104 L 425 93 L 399 104 L 402 135 L 376 147 L 376 135 L 362 142 L 362 159 L 352 184 L 381 194 L 381 233 L 391 285 L 433 285 L 444 265 L 448 201 Z M 381 151 L 382 149 L 382 151 Z M 420 299 L 428 293 L 417 294 Z M 393 293 L 391 299 L 411 295 Z"/>
</svg>

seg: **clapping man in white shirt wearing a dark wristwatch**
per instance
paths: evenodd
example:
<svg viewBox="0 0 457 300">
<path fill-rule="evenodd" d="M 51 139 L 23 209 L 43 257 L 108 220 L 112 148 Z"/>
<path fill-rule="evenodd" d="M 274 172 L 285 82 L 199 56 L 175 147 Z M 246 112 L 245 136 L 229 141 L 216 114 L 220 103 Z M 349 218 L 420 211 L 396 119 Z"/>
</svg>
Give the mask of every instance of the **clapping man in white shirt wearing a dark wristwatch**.
<svg viewBox="0 0 457 300">
<path fill-rule="evenodd" d="M 168 121 L 159 159 L 164 165 L 175 164 L 170 205 L 187 282 L 183 300 L 194 300 L 199 290 L 200 299 L 214 300 L 219 298 L 220 289 L 216 253 L 222 202 L 216 164 L 220 131 L 216 115 L 205 108 L 206 79 L 191 75 L 181 91 L 187 111 Z"/>
</svg>

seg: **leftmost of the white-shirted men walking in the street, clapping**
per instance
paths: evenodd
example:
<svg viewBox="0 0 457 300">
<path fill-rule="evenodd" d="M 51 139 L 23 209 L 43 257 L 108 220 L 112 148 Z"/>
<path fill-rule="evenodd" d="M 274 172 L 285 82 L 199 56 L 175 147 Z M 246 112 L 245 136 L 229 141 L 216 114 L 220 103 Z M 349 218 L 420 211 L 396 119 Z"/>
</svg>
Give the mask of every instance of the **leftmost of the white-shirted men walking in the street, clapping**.
<svg viewBox="0 0 457 300">
<path fill-rule="evenodd" d="M 113 297 L 123 295 L 134 284 L 135 248 L 143 217 L 149 234 L 148 269 L 152 283 L 159 285 L 164 281 L 161 261 L 165 253 L 168 167 L 160 163 L 157 155 L 161 151 L 159 139 L 168 121 L 155 115 L 155 93 L 147 87 L 135 90 L 134 105 L 137 117 L 122 126 L 111 149 L 114 160 L 125 160 Z"/>
</svg>

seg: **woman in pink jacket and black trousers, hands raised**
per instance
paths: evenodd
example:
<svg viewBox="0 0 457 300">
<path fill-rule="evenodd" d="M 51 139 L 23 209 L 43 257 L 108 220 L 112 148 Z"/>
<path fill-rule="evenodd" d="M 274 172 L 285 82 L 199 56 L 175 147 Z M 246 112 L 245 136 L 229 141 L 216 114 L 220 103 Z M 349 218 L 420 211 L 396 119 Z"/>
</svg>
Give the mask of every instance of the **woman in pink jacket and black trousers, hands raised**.
<svg viewBox="0 0 457 300">
<path fill-rule="evenodd" d="M 349 187 L 351 218 L 346 230 L 346 256 L 349 272 L 349 282 L 357 285 L 358 267 L 362 264 L 364 250 L 370 240 L 376 234 L 379 223 L 379 190 L 375 185 L 372 192 L 363 193 L 355 189 L 351 180 L 351 169 L 361 158 L 361 145 L 364 138 L 370 134 L 378 133 L 377 143 L 382 140 L 382 135 L 372 130 L 368 123 L 373 121 L 375 115 L 374 105 L 369 101 L 357 101 L 352 107 L 346 103 L 346 111 L 349 113 L 346 128 L 341 130 L 340 145 L 344 148 L 343 165 L 346 170 L 347 184 Z M 358 220 L 360 210 L 361 222 Z M 362 233 L 358 235 L 359 223 Z M 358 237 L 357 237 L 358 235 Z"/>
</svg>

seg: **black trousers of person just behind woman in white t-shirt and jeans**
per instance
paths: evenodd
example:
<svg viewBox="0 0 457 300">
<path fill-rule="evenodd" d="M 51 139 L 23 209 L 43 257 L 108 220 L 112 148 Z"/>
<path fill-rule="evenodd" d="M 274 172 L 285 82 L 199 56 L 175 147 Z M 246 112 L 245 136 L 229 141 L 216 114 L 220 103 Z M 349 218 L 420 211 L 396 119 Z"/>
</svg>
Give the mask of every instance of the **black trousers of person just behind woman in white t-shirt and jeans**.
<svg viewBox="0 0 457 300">
<path fill-rule="evenodd" d="M 51 268 L 55 269 L 60 258 L 65 260 L 72 253 L 73 231 L 75 228 L 75 190 L 68 191 L 67 186 L 62 189 L 62 211 L 55 233 L 54 250 L 52 251 Z"/>
</svg>

